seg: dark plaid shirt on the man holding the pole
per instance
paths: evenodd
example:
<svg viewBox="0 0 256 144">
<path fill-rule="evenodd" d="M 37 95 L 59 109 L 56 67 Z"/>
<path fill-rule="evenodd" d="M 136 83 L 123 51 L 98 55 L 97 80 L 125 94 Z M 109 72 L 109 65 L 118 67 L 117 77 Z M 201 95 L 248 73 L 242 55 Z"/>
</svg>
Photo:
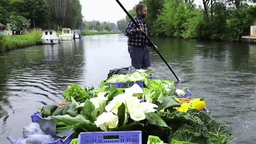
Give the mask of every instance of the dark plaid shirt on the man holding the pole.
<svg viewBox="0 0 256 144">
<path fill-rule="evenodd" d="M 146 27 L 146 23 L 142 17 L 135 16 L 133 17 L 135 22 L 142 28 L 145 34 L 148 34 L 148 28 Z M 124 35 L 128 36 L 128 46 L 150 46 L 146 38 L 142 35 L 142 33 L 137 32 L 136 25 L 132 20 L 129 21 L 126 30 L 124 31 Z"/>
</svg>

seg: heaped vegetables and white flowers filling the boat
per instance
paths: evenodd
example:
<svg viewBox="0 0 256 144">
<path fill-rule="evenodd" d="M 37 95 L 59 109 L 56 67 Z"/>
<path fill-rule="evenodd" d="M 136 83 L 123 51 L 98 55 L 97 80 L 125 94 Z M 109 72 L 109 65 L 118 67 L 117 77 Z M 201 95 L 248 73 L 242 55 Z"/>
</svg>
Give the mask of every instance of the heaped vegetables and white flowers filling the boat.
<svg viewBox="0 0 256 144">
<path fill-rule="evenodd" d="M 97 88 L 69 85 L 63 93 L 65 102 L 38 108 L 39 114 L 71 126 L 73 138 L 81 132 L 140 130 L 143 143 L 149 135 L 165 143 L 227 143 L 232 139 L 231 126 L 204 111 L 203 98 L 177 98 L 188 88 L 177 89 L 174 81 L 149 78 L 153 72 L 114 74 Z M 138 81 L 143 87 L 136 84 Z M 115 82 L 134 84 L 116 88 Z"/>
</svg>

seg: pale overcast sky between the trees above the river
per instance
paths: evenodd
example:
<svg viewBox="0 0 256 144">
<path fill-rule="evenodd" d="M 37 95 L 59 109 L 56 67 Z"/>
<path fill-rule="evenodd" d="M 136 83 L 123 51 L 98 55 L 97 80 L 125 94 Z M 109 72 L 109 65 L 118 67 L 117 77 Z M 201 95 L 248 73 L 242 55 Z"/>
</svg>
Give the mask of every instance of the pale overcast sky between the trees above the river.
<svg viewBox="0 0 256 144">
<path fill-rule="evenodd" d="M 119 0 L 127 11 L 139 4 L 140 0 Z M 80 0 L 82 15 L 85 21 L 98 20 L 100 22 L 117 23 L 126 17 L 126 13 L 116 0 Z"/>
</svg>

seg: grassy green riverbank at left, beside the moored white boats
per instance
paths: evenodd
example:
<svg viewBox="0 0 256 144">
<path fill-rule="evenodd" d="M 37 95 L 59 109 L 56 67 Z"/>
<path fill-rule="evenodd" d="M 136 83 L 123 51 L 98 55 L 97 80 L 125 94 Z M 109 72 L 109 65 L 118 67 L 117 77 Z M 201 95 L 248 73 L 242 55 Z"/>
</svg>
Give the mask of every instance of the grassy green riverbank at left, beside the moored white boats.
<svg viewBox="0 0 256 144">
<path fill-rule="evenodd" d="M 41 43 L 41 31 L 31 30 L 25 35 L 2 36 L 0 35 L 0 52 L 34 46 Z"/>
</svg>

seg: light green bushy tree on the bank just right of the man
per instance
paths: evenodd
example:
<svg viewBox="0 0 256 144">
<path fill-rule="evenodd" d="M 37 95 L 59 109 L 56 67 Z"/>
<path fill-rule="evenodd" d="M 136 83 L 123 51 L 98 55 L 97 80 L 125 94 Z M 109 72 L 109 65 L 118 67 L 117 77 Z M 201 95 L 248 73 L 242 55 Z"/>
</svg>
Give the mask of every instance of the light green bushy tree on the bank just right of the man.
<svg viewBox="0 0 256 144">
<path fill-rule="evenodd" d="M 197 38 L 203 14 L 196 5 L 180 0 L 166 0 L 157 20 L 153 23 L 155 36 Z"/>
</svg>

